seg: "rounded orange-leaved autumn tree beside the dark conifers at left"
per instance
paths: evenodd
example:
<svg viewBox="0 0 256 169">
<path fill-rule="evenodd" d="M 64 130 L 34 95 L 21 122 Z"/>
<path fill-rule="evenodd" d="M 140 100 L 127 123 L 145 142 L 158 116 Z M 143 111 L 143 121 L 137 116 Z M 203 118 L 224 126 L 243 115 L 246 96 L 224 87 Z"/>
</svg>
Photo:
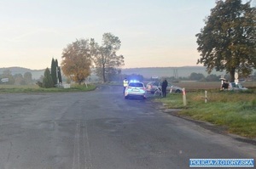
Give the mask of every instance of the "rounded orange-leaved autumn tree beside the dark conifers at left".
<svg viewBox="0 0 256 169">
<path fill-rule="evenodd" d="M 67 45 L 62 52 L 62 71 L 74 82 L 84 82 L 90 76 L 91 56 L 88 40 L 81 39 Z"/>
</svg>

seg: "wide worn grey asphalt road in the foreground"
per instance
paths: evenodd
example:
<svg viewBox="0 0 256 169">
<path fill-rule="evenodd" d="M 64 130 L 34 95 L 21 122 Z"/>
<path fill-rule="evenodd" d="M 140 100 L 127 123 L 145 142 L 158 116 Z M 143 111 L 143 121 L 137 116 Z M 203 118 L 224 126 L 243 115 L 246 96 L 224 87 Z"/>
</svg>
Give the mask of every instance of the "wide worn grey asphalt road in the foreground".
<svg viewBox="0 0 256 169">
<path fill-rule="evenodd" d="M 254 158 L 256 146 L 168 115 L 122 87 L 0 94 L 1 169 L 172 169 L 191 158 Z"/>
</svg>

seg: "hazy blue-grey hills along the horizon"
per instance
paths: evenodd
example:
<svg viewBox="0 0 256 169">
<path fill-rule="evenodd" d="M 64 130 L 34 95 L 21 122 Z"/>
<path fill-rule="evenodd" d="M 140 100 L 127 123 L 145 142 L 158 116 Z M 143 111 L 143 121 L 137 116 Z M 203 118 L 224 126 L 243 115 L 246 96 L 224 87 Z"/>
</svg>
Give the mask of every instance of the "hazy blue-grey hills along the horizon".
<svg viewBox="0 0 256 169">
<path fill-rule="evenodd" d="M 7 67 L 0 68 L 0 75 L 3 74 L 4 70 L 10 70 L 13 75 L 21 74 L 24 75 L 26 72 L 32 73 L 32 79 L 39 79 L 40 76 L 44 75 L 44 70 L 30 70 L 22 67 Z M 207 76 L 206 67 L 204 66 L 183 66 L 183 67 L 147 67 L 147 68 L 130 68 L 122 69 L 122 74 L 131 75 L 138 74 L 144 77 L 150 78 L 151 76 L 174 76 L 174 72 L 177 71 L 177 76 L 188 77 L 192 72 L 201 73 Z M 224 72 L 212 71 L 212 74 L 217 76 L 223 75 Z"/>
</svg>

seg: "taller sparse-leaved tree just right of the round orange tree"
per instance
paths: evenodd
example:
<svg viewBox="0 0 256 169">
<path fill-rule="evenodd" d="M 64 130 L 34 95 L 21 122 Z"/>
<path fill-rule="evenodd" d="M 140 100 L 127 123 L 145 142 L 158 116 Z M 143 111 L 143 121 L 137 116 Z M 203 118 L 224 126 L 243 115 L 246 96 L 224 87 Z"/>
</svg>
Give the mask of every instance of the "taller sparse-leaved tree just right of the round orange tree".
<svg viewBox="0 0 256 169">
<path fill-rule="evenodd" d="M 120 73 L 118 67 L 124 65 L 124 56 L 117 55 L 121 46 L 119 37 L 111 33 L 104 33 L 102 36 L 102 46 L 99 46 L 94 39 L 90 41 L 91 54 L 94 56 L 96 75 L 102 78 L 103 82 L 109 81 L 112 77 Z"/>
</svg>

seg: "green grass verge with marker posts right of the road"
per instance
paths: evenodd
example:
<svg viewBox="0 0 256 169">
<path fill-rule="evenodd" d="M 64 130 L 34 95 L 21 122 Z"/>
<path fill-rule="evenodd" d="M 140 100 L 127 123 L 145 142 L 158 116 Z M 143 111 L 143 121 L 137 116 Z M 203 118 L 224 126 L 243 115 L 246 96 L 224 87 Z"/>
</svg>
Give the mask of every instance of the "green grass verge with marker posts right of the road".
<svg viewBox="0 0 256 169">
<path fill-rule="evenodd" d="M 256 138 L 256 90 L 247 92 L 220 92 L 215 89 L 187 93 L 187 105 L 183 105 L 182 94 L 168 94 L 166 99 L 156 99 L 168 109 L 181 109 L 178 115 L 194 120 L 208 121 L 227 128 L 227 132 L 247 138 Z"/>
</svg>

